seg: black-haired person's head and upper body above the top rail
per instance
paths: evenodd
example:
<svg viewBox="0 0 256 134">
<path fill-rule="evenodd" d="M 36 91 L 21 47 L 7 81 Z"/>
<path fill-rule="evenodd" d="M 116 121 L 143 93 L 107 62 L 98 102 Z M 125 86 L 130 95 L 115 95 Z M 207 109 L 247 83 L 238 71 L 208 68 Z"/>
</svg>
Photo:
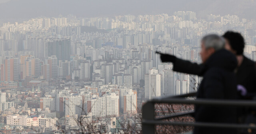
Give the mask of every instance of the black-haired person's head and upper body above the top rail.
<svg viewBox="0 0 256 134">
<path fill-rule="evenodd" d="M 236 55 L 238 68 L 236 69 L 237 84 L 246 88 L 246 94 L 240 98 L 252 99 L 256 92 L 256 68 L 255 63 L 243 55 L 244 38 L 238 32 L 226 32 L 223 37 L 226 39 L 225 48 Z"/>
</svg>

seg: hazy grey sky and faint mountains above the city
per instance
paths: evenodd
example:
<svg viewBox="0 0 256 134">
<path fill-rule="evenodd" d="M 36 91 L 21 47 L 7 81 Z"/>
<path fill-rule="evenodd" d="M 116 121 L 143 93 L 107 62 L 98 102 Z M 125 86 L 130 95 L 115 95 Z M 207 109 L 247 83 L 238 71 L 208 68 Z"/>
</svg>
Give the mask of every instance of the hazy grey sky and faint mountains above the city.
<svg viewBox="0 0 256 134">
<path fill-rule="evenodd" d="M 198 18 L 207 14 L 236 14 L 256 19 L 254 0 L 4 0 L 0 3 L 0 20 L 74 14 L 78 17 L 125 14 L 172 14 L 194 11 Z"/>
</svg>

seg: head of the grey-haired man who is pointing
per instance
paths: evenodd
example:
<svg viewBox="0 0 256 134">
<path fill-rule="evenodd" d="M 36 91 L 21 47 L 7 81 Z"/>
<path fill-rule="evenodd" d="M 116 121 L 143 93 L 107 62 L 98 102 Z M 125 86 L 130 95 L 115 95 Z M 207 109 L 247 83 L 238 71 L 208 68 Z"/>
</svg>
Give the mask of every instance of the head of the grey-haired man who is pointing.
<svg viewBox="0 0 256 134">
<path fill-rule="evenodd" d="M 201 58 L 203 63 L 206 62 L 206 60 L 216 51 L 224 48 L 225 46 L 225 40 L 216 35 L 216 34 L 210 34 L 207 36 L 204 36 L 201 41 Z"/>
</svg>

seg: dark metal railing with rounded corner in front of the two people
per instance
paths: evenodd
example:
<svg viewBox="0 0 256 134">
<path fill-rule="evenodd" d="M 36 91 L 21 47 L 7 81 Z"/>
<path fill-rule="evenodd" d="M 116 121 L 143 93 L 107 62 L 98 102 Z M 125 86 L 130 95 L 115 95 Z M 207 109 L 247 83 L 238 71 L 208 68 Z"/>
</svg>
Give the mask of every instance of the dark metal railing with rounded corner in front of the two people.
<svg viewBox="0 0 256 134">
<path fill-rule="evenodd" d="M 196 104 L 207 106 L 235 106 L 235 107 L 256 107 L 256 101 L 252 100 L 216 100 L 216 99 L 196 99 L 189 100 L 185 97 L 195 96 L 196 93 L 185 94 L 180 96 L 170 96 L 155 98 L 149 100 L 142 106 L 142 133 L 155 134 L 155 125 L 174 125 L 174 126 L 200 126 L 200 127 L 214 127 L 214 128 L 247 128 L 256 129 L 256 125 L 247 124 L 228 124 L 228 123 L 212 123 L 212 122 L 168 122 L 165 119 L 174 118 L 178 116 L 186 116 L 193 114 L 193 111 L 177 113 L 174 115 L 155 117 L 155 103 L 168 103 L 168 104 Z"/>
</svg>

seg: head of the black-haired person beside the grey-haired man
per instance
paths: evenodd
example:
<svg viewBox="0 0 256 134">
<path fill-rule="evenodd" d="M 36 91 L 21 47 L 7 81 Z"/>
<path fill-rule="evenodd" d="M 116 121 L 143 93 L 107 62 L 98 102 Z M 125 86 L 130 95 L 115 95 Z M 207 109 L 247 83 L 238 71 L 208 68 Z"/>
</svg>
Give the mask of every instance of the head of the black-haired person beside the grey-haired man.
<svg viewBox="0 0 256 134">
<path fill-rule="evenodd" d="M 244 52 L 244 38 L 238 32 L 228 31 L 223 37 L 226 39 L 225 48 L 235 55 L 241 55 Z"/>
</svg>

